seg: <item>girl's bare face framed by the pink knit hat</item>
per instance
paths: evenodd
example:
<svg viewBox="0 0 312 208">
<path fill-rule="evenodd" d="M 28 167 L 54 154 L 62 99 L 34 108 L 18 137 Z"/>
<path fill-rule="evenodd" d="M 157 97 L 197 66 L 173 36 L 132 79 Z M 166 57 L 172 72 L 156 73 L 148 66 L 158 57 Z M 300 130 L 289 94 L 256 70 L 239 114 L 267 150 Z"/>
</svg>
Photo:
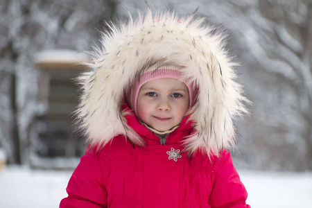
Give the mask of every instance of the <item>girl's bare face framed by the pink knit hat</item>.
<svg viewBox="0 0 312 208">
<path fill-rule="evenodd" d="M 157 131 L 179 125 L 189 109 L 187 85 L 174 78 L 145 83 L 137 98 L 137 116 Z"/>
</svg>

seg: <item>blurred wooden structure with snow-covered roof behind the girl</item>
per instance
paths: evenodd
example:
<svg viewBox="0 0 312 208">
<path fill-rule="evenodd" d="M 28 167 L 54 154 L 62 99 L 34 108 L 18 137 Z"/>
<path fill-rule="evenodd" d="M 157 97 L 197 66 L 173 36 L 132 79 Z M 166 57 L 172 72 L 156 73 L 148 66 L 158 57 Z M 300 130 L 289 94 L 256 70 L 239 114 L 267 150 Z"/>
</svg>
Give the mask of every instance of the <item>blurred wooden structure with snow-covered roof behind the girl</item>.
<svg viewBox="0 0 312 208">
<path fill-rule="evenodd" d="M 38 168 L 74 168 L 85 151 L 85 144 L 73 126 L 73 111 L 78 104 L 74 78 L 87 67 L 85 53 L 43 51 L 35 57 L 38 78 L 38 107 L 31 138 L 30 163 Z"/>
</svg>

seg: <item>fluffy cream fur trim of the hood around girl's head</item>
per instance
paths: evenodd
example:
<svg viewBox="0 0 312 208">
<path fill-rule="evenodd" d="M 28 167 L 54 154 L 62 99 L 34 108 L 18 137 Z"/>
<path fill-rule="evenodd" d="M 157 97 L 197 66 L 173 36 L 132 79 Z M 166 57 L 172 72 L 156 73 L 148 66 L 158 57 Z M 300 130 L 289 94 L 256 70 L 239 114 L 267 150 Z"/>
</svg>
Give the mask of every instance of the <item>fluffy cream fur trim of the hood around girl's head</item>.
<svg viewBox="0 0 312 208">
<path fill-rule="evenodd" d="M 144 141 L 123 116 L 124 94 L 139 76 L 155 64 L 182 66 L 180 71 L 198 87 L 196 103 L 189 110 L 195 125 L 184 139 L 185 150 L 218 155 L 235 146 L 234 119 L 247 113 L 241 85 L 236 83 L 225 46 L 225 35 L 205 19 L 177 17 L 174 12 L 129 15 L 127 23 L 107 24 L 101 46 L 91 52 L 91 71 L 78 78 L 82 88 L 76 111 L 78 125 L 92 145 L 107 144 L 116 135 L 127 135 L 133 144 Z"/>
</svg>

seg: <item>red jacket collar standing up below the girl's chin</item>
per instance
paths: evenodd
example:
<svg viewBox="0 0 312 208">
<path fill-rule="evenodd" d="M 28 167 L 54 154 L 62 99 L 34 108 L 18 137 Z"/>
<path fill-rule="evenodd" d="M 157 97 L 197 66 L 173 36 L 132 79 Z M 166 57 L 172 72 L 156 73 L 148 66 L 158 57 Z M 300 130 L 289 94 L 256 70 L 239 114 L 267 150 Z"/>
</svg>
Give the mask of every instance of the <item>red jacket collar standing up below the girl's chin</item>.
<svg viewBox="0 0 312 208">
<path fill-rule="evenodd" d="M 125 119 L 127 120 L 127 124 L 135 130 L 139 136 L 144 139 L 146 145 L 155 145 L 160 144 L 159 137 L 155 135 L 153 132 L 148 130 L 144 125 L 141 125 L 139 119 L 135 115 L 135 113 L 128 107 L 128 105 L 123 105 L 123 111 L 126 111 Z M 184 117 L 181 121 L 181 125 L 176 128 L 173 132 L 171 132 L 166 137 L 166 144 L 179 144 L 182 145 L 182 141 L 185 137 L 189 136 L 192 131 L 192 121 L 188 121 L 189 116 Z"/>
</svg>

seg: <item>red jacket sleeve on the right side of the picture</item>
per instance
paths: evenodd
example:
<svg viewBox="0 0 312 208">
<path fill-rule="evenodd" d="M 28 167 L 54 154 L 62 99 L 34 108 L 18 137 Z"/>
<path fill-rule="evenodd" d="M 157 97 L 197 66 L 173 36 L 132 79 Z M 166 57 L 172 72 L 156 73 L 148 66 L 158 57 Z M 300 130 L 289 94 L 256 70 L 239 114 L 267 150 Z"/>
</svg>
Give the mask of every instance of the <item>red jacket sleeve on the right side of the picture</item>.
<svg viewBox="0 0 312 208">
<path fill-rule="evenodd" d="M 213 165 L 213 187 L 209 196 L 211 207 L 250 208 L 245 203 L 247 191 L 233 166 L 229 152 L 223 150 Z"/>
</svg>

